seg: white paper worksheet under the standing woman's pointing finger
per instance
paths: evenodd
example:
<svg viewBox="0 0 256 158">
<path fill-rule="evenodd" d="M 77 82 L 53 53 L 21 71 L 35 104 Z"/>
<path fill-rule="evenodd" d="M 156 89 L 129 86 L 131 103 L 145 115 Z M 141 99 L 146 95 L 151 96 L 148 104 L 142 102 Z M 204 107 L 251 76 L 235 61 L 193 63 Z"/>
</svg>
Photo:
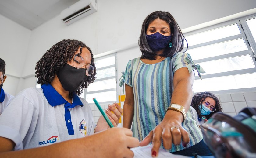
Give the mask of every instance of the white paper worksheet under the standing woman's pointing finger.
<svg viewBox="0 0 256 158">
<path fill-rule="evenodd" d="M 133 158 L 152 158 L 151 156 L 151 149 L 152 145 L 147 145 L 147 146 L 139 146 L 136 148 L 131 148 L 131 150 L 134 153 Z M 164 157 L 172 157 L 172 158 L 190 158 L 188 156 L 183 156 L 183 155 L 174 155 L 172 153 L 169 153 L 168 151 L 165 151 L 164 149 L 159 149 L 158 153 L 158 158 L 164 158 Z"/>
</svg>

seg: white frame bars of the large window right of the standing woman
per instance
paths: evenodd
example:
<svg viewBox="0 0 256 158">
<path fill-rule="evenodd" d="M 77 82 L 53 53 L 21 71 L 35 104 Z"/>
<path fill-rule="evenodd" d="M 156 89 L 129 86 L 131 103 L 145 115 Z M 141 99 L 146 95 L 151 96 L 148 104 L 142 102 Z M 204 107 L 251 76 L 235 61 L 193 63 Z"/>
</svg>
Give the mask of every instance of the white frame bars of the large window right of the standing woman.
<svg viewBox="0 0 256 158">
<path fill-rule="evenodd" d="M 228 53 L 228 54 L 223 54 L 223 55 L 219 55 L 219 56 L 193 60 L 193 61 L 196 64 L 196 63 L 201 63 L 201 62 L 250 55 L 250 57 L 252 58 L 252 61 L 254 63 L 254 66 L 255 66 L 254 68 L 248 68 L 248 69 L 242 69 L 242 70 L 233 70 L 233 71 L 220 72 L 220 73 L 214 73 L 214 74 L 206 74 L 206 75 L 202 74 L 203 79 L 213 78 L 213 77 L 225 77 L 225 76 L 232 76 L 232 75 L 239 75 L 239 74 L 256 73 L 256 61 L 255 61 L 255 53 L 254 53 L 256 51 L 256 43 L 255 43 L 255 40 L 254 40 L 252 33 L 247 25 L 247 22 L 246 22 L 246 20 L 253 19 L 253 18 L 256 18 L 256 14 L 236 18 L 233 20 L 229 20 L 226 22 L 222 22 L 219 24 L 215 24 L 212 26 L 208 26 L 208 27 L 204 27 L 201 29 L 197 29 L 194 31 L 184 33 L 184 36 L 186 37 L 186 36 L 190 36 L 190 35 L 194 35 L 194 34 L 198 34 L 198 33 L 211 31 L 211 30 L 218 29 L 221 27 L 237 24 L 237 26 L 240 30 L 240 34 L 234 35 L 234 36 L 229 36 L 229 37 L 218 39 L 218 40 L 205 42 L 205 43 L 196 44 L 193 46 L 188 46 L 188 50 L 194 49 L 194 48 L 199 48 L 202 46 L 208 46 L 211 44 L 217 44 L 217 43 L 221 43 L 221 42 L 225 42 L 225 41 L 231 41 L 231 40 L 243 38 L 248 50 L 234 52 L 234 53 Z M 187 49 L 187 46 L 184 47 L 183 51 L 186 49 Z M 192 59 L 193 59 L 193 57 L 192 57 Z M 199 80 L 199 79 L 200 79 L 199 76 L 195 76 L 195 80 Z M 255 87 L 254 88 L 239 88 L 239 89 L 227 89 L 227 90 L 220 90 L 220 91 L 212 91 L 212 92 L 215 92 L 215 94 L 226 94 L 226 93 L 236 93 L 236 92 L 241 92 L 241 91 L 242 92 L 251 92 L 251 91 L 256 91 L 256 89 L 255 89 Z"/>
</svg>

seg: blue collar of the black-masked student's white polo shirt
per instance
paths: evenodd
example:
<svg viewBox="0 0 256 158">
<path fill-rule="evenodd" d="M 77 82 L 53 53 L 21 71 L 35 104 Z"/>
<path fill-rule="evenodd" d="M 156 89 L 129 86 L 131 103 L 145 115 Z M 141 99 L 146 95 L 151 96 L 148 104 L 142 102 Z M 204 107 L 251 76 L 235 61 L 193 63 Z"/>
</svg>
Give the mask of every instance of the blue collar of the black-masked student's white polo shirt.
<svg viewBox="0 0 256 158">
<path fill-rule="evenodd" d="M 53 87 L 51 84 L 43 84 L 41 86 L 43 89 L 43 93 L 45 98 L 47 99 L 48 103 L 52 106 L 65 104 L 68 101 L 66 101 Z M 81 107 L 84 106 L 80 98 L 76 95 L 76 93 L 71 93 L 72 99 L 73 99 L 73 106 L 80 105 Z"/>
</svg>

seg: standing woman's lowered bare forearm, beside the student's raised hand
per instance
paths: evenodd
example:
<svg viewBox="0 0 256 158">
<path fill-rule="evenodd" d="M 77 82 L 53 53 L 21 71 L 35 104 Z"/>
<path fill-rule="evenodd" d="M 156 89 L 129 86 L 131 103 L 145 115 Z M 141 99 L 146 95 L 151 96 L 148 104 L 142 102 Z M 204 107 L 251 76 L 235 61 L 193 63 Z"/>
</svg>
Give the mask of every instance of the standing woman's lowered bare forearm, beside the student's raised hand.
<svg viewBox="0 0 256 158">
<path fill-rule="evenodd" d="M 134 104 L 128 105 L 125 103 L 123 105 L 123 127 L 131 129 L 131 125 L 133 122 L 133 115 L 134 115 Z"/>
</svg>

